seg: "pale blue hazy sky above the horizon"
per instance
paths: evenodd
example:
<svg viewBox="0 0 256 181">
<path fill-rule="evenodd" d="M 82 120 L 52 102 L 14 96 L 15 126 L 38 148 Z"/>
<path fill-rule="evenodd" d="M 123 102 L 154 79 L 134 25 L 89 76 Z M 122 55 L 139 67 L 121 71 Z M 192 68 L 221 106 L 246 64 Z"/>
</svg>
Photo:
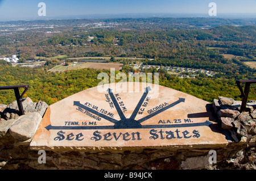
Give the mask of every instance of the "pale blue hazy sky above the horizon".
<svg viewBox="0 0 256 181">
<path fill-rule="evenodd" d="M 46 17 L 123 13 L 208 14 L 210 2 L 217 13 L 256 13 L 256 0 L 0 0 L 0 20 L 38 19 L 39 2 L 46 3 Z"/>
</svg>

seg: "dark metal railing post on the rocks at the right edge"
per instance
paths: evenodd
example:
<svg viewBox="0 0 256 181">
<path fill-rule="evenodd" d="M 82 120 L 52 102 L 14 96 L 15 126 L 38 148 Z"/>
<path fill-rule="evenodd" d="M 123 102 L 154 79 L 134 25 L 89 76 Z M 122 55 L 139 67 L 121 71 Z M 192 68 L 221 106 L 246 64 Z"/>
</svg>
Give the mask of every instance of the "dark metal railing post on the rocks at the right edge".
<svg viewBox="0 0 256 181">
<path fill-rule="evenodd" d="M 242 105 L 241 105 L 240 112 L 242 112 L 246 108 L 246 103 L 247 103 L 247 99 L 248 99 L 248 95 L 249 95 L 250 85 L 251 85 L 251 83 L 256 83 L 256 79 L 255 80 L 241 80 L 241 81 L 236 81 L 236 83 L 237 83 L 238 89 L 241 92 L 240 98 L 242 98 Z M 245 83 L 245 90 L 244 91 L 241 87 L 241 83 Z"/>
</svg>

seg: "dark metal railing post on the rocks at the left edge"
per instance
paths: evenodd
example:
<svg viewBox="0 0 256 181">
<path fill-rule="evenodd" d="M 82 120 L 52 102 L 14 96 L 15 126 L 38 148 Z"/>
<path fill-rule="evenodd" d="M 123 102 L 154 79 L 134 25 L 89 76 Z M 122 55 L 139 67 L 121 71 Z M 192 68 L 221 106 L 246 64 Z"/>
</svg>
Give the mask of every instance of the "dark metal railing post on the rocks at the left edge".
<svg viewBox="0 0 256 181">
<path fill-rule="evenodd" d="M 20 115 L 24 115 L 24 110 L 23 110 L 23 106 L 22 106 L 22 96 L 25 94 L 25 92 L 28 89 L 28 85 L 19 85 L 19 86 L 2 86 L 0 87 L 0 90 L 7 90 L 7 89 L 13 89 L 14 93 L 15 93 L 15 97 L 17 100 L 17 104 L 19 107 L 19 112 Z M 25 88 L 25 90 L 22 92 L 22 94 L 19 94 L 19 88 Z"/>
</svg>

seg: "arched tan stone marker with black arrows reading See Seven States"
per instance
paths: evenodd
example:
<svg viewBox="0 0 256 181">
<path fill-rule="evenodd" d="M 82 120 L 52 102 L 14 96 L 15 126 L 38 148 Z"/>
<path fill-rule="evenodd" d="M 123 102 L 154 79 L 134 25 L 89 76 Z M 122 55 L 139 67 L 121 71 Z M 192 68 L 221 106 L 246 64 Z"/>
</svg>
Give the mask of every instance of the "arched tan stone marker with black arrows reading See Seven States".
<svg viewBox="0 0 256 181">
<path fill-rule="evenodd" d="M 118 151 L 226 146 L 209 104 L 150 83 L 97 86 L 49 106 L 30 148 Z"/>
</svg>

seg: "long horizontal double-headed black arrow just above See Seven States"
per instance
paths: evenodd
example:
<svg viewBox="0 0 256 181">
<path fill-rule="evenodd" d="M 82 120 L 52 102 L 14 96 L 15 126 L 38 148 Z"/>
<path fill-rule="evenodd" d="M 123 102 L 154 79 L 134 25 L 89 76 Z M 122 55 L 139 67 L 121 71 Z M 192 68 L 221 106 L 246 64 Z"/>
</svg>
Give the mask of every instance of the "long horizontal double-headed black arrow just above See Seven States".
<svg viewBox="0 0 256 181">
<path fill-rule="evenodd" d="M 205 121 L 203 123 L 185 123 L 185 124 L 158 124 L 158 125 L 142 125 L 141 128 L 138 129 L 156 129 L 156 128 L 185 128 L 185 127 L 203 127 L 211 125 L 210 121 Z M 115 129 L 114 126 L 52 126 L 49 124 L 47 127 L 45 127 L 47 131 L 49 129 Z M 121 129 L 121 128 L 118 128 Z M 129 129 L 129 128 L 125 128 Z M 134 129 L 134 128 L 132 128 Z"/>
</svg>

